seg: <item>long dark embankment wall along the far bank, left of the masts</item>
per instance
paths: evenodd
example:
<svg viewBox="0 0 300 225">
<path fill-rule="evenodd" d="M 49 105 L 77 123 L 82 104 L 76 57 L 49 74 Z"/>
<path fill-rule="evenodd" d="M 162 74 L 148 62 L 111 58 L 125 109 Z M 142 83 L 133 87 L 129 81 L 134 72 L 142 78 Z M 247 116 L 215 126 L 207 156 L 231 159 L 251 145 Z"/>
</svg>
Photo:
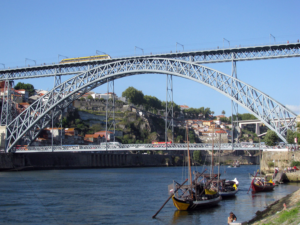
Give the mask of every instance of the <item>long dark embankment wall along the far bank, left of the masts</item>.
<svg viewBox="0 0 300 225">
<path fill-rule="evenodd" d="M 182 155 L 90 152 L 1 153 L 0 171 L 182 166 Z"/>
</svg>

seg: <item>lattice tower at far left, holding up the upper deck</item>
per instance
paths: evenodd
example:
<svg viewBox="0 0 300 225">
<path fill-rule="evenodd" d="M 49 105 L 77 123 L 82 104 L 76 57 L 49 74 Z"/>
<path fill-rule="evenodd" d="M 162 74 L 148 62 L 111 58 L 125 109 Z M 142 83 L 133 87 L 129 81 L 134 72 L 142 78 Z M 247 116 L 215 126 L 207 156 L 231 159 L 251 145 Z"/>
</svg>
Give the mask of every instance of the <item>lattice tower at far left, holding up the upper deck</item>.
<svg viewBox="0 0 300 225">
<path fill-rule="evenodd" d="M 16 96 L 14 94 L 14 82 L 5 81 L 3 98 L 2 98 L 2 111 L 1 111 L 1 126 L 6 126 L 14 118 L 16 118 Z"/>
</svg>

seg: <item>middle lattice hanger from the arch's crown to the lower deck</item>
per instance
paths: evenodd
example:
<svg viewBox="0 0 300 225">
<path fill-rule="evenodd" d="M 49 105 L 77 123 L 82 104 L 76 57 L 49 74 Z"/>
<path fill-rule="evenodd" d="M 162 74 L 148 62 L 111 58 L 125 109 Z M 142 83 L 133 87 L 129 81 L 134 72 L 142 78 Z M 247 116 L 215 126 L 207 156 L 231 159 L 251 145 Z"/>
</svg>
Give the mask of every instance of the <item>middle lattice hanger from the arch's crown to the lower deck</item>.
<svg viewBox="0 0 300 225">
<path fill-rule="evenodd" d="M 167 74 L 167 97 L 166 97 L 166 142 L 168 141 L 168 130 L 172 131 L 172 142 L 174 143 L 173 123 L 173 83 L 172 75 Z"/>
</svg>

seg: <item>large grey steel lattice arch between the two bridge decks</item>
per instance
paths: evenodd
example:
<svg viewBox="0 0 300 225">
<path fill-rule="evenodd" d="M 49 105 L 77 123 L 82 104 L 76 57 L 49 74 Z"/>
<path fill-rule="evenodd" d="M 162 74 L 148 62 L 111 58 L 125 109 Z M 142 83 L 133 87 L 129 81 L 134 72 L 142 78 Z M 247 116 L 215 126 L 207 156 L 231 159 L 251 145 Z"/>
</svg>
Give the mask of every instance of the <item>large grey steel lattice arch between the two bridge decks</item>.
<svg viewBox="0 0 300 225">
<path fill-rule="evenodd" d="M 107 81 L 145 73 L 175 75 L 211 87 L 247 109 L 283 140 L 287 129 L 295 130 L 295 113 L 243 81 L 197 63 L 149 57 L 103 64 L 59 84 L 8 124 L 7 151 L 21 139 L 31 143 L 50 123 L 53 116 L 56 117 L 61 109 L 89 90 Z"/>
</svg>

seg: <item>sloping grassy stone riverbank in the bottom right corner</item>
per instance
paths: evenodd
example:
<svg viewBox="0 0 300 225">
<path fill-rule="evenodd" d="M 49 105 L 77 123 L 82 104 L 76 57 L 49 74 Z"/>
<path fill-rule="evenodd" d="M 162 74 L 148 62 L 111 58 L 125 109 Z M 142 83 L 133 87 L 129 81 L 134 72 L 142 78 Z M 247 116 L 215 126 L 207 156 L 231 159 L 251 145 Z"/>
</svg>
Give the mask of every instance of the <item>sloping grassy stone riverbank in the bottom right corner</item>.
<svg viewBox="0 0 300 225">
<path fill-rule="evenodd" d="M 281 211 L 286 203 L 288 211 Z M 278 213 L 277 213 L 278 212 Z M 248 222 L 251 225 L 297 225 L 300 222 L 300 189 L 277 200 Z"/>
</svg>

